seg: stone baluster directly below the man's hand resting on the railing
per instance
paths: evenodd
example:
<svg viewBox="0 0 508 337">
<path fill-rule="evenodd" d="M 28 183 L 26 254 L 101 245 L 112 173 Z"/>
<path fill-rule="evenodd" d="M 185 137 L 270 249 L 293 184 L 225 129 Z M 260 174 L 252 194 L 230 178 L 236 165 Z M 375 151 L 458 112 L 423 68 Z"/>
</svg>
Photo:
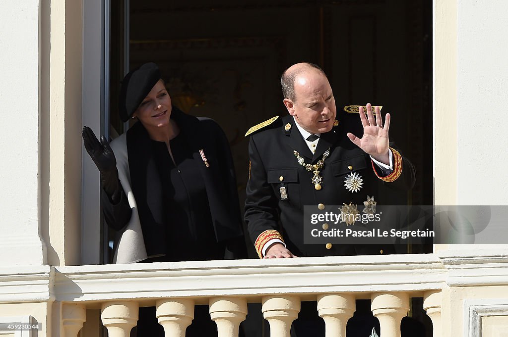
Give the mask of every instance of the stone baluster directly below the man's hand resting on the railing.
<svg viewBox="0 0 508 337">
<path fill-rule="evenodd" d="M 300 312 L 300 298 L 287 295 L 265 296 L 261 311 L 270 323 L 270 336 L 290 337 L 291 324 Z"/>
</svg>

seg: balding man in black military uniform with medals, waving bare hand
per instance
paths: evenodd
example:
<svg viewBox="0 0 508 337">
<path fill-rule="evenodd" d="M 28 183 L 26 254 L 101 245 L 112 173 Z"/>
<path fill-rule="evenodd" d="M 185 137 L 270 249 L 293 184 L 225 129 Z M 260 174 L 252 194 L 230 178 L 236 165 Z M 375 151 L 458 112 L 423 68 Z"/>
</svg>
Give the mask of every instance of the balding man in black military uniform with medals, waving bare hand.
<svg viewBox="0 0 508 337">
<path fill-rule="evenodd" d="M 337 121 L 332 88 L 321 68 L 298 63 L 281 78 L 289 115 L 252 127 L 245 221 L 260 257 L 393 253 L 393 246 L 304 244 L 303 206 L 389 205 L 384 189 L 408 190 L 415 169 L 390 147 L 390 114 L 367 104 L 358 129 Z M 342 123 L 341 123 L 342 122 Z M 351 123 L 351 121 L 348 121 Z M 358 123 L 360 124 L 360 123 Z M 281 225 L 281 227 L 280 227 Z"/>
</svg>

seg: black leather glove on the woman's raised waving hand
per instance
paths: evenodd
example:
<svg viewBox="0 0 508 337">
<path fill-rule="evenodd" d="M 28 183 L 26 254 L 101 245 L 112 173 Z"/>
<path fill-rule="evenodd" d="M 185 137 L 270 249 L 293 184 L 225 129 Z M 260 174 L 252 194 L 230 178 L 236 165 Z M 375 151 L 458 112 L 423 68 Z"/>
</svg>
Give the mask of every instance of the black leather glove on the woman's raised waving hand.
<svg viewBox="0 0 508 337">
<path fill-rule="evenodd" d="M 117 201 L 119 199 L 118 170 L 116 169 L 115 155 L 109 146 L 109 142 L 104 136 L 101 136 L 99 142 L 99 139 L 87 126 L 83 127 L 81 135 L 83 136 L 86 152 L 101 172 L 104 192 L 111 201 Z"/>
</svg>

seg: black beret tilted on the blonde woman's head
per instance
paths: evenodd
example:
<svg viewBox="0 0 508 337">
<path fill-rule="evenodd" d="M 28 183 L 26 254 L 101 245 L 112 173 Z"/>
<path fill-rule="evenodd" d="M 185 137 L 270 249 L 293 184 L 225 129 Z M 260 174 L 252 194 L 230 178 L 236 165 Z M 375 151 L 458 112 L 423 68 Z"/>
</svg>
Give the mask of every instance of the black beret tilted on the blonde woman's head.
<svg viewBox="0 0 508 337">
<path fill-rule="evenodd" d="M 131 118 L 139 104 L 161 79 L 161 71 L 155 63 L 145 63 L 125 75 L 120 88 L 118 107 L 120 119 L 126 122 Z"/>
</svg>

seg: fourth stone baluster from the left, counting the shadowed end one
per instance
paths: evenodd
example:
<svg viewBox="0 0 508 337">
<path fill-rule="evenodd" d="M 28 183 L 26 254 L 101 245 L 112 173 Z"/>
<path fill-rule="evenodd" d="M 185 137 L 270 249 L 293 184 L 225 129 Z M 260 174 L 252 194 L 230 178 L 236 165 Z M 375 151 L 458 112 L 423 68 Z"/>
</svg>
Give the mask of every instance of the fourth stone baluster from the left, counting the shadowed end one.
<svg viewBox="0 0 508 337">
<path fill-rule="evenodd" d="M 238 327 L 247 315 L 247 301 L 240 297 L 210 298 L 210 317 L 219 337 L 238 337 Z"/>
</svg>

